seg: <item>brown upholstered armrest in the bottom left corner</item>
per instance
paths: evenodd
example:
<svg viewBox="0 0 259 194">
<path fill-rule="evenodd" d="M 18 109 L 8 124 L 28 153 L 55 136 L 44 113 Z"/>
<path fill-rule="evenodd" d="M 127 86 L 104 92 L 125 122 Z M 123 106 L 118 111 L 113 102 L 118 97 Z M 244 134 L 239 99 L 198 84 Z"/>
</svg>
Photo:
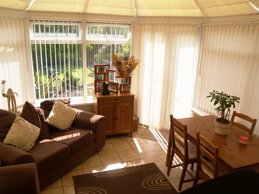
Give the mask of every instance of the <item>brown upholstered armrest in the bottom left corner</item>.
<svg viewBox="0 0 259 194">
<path fill-rule="evenodd" d="M 35 163 L 0 167 L 1 193 L 40 193 Z"/>
</svg>

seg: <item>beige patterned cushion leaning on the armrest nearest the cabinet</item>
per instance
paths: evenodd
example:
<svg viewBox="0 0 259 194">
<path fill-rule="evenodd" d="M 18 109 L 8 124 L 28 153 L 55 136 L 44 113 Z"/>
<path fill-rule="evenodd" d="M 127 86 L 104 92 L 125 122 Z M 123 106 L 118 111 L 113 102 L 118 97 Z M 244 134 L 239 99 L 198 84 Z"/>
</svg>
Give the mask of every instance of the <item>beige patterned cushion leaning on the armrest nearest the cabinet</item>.
<svg viewBox="0 0 259 194">
<path fill-rule="evenodd" d="M 46 123 L 58 128 L 67 130 L 76 118 L 77 111 L 58 100 L 54 101 L 52 110 L 46 119 Z"/>
</svg>

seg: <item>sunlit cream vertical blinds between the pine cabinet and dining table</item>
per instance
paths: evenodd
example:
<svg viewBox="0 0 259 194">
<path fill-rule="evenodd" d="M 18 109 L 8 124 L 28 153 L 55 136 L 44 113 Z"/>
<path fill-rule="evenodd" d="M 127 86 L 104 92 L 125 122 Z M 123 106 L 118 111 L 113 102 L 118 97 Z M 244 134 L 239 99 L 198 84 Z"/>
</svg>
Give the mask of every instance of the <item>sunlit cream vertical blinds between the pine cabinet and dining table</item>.
<svg viewBox="0 0 259 194">
<path fill-rule="evenodd" d="M 197 26 L 139 24 L 137 28 L 136 57 L 142 61 L 136 95 L 138 117 L 141 124 L 166 130 L 170 114 L 191 116 Z"/>
</svg>

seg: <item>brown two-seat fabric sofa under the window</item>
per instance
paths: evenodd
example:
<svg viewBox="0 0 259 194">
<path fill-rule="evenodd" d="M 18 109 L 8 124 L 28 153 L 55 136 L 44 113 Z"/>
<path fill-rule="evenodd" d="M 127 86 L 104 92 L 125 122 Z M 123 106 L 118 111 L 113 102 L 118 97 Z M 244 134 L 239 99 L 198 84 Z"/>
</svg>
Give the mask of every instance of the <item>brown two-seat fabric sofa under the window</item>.
<svg viewBox="0 0 259 194">
<path fill-rule="evenodd" d="M 70 99 L 60 100 L 70 104 Z M 0 160 L 2 166 L 36 163 L 39 188 L 42 189 L 105 145 L 105 117 L 78 110 L 68 130 L 46 125 L 54 100 L 46 100 L 36 108 L 26 102 L 21 117 L 41 129 L 31 150 L 3 144 L 16 115 L 0 109 Z M 12 185 L 10 185 L 11 187 Z"/>
</svg>

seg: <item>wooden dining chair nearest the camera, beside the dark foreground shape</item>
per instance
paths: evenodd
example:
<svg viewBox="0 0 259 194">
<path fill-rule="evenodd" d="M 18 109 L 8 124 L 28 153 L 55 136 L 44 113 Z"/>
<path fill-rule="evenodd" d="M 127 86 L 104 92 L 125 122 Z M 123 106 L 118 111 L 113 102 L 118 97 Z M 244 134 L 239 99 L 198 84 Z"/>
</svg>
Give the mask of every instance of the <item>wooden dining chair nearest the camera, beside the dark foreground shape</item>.
<svg viewBox="0 0 259 194">
<path fill-rule="evenodd" d="M 201 144 L 202 142 L 202 144 Z M 219 166 L 219 147 L 214 146 L 200 132 L 196 132 L 197 143 L 197 170 L 193 181 L 193 186 L 197 185 L 199 177 L 204 181 L 227 174 L 227 172 Z M 207 148 L 205 148 L 204 147 Z M 210 150 L 210 152 L 208 151 Z M 211 161 L 208 162 L 203 158 L 201 152 Z"/>
</svg>

